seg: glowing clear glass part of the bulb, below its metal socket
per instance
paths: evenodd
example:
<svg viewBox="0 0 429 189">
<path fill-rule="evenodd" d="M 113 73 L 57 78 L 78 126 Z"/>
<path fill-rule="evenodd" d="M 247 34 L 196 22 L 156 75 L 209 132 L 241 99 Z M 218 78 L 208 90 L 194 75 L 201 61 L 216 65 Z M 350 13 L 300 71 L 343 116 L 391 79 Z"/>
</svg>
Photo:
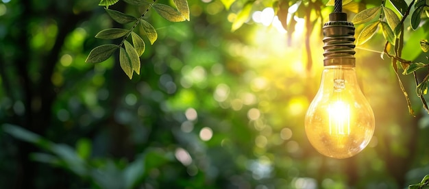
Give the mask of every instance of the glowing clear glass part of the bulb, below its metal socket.
<svg viewBox="0 0 429 189">
<path fill-rule="evenodd" d="M 374 125 L 371 106 L 360 91 L 354 66 L 325 66 L 319 91 L 305 118 L 312 146 L 328 157 L 352 157 L 367 146 Z"/>
</svg>

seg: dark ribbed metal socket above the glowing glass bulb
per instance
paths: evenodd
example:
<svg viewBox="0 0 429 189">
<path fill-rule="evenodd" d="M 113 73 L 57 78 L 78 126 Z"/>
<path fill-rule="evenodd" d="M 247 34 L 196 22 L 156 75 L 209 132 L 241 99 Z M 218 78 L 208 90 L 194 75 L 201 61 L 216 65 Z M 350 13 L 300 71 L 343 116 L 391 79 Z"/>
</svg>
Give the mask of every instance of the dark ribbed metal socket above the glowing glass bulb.
<svg viewBox="0 0 429 189">
<path fill-rule="evenodd" d="M 329 15 L 328 23 L 323 26 L 324 66 L 355 66 L 354 25 L 347 22 L 347 14 L 334 12 Z"/>
</svg>

